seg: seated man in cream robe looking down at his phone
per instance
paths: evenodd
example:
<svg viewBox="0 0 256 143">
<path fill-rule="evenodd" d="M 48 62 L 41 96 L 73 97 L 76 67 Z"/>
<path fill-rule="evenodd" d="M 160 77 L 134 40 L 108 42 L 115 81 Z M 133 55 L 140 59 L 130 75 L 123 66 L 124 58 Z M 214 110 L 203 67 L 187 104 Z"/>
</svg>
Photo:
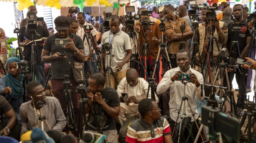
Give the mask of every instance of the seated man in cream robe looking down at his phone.
<svg viewBox="0 0 256 143">
<path fill-rule="evenodd" d="M 120 81 L 117 87 L 117 93 L 121 101 L 121 110 L 117 120 L 121 125 L 125 123 L 126 118 L 128 119 L 133 117 L 136 113 L 138 113 L 138 104 L 141 99 L 147 98 L 147 92 L 148 82 L 138 76 L 136 69 L 128 69 L 126 72 L 126 77 Z M 127 93 L 127 102 L 129 105 L 125 104 L 121 93 Z M 148 98 L 151 98 L 151 90 L 149 90 Z M 158 102 L 157 96 L 156 101 Z"/>
</svg>

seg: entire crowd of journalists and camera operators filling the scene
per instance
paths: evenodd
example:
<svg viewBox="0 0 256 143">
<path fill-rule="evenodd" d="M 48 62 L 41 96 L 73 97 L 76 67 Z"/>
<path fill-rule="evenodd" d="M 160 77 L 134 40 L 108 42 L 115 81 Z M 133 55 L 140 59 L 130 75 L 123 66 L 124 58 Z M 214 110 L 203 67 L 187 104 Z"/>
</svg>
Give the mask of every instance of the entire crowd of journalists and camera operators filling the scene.
<svg viewBox="0 0 256 143">
<path fill-rule="evenodd" d="M 213 3 L 213 6 L 217 6 L 217 3 Z M 122 128 L 127 129 L 125 142 L 128 143 L 176 143 L 179 137 L 183 142 L 187 138 L 189 142 L 194 142 L 199 130 L 201 108 L 208 102 L 202 95 L 211 95 L 207 87 L 201 90 L 201 86 L 229 85 L 226 80 L 220 83 L 223 76 L 216 74 L 221 50 L 225 51 L 227 57 L 252 63 L 239 66 L 236 71 L 227 67 L 225 75 L 229 81 L 233 81 L 235 74 L 240 96 L 235 106 L 225 100 L 222 112 L 231 116 L 231 108 L 235 107 L 237 114 L 232 117 L 242 116 L 246 94 L 251 90 L 251 69 L 256 69 L 255 53 L 251 50 L 255 45 L 250 47 L 255 21 L 248 21 L 248 8 L 237 4 L 232 9 L 226 2 L 221 3 L 223 10 L 216 11 L 216 17 L 209 19 L 207 13 L 212 12 L 213 6 L 203 6 L 197 20 L 188 15 L 188 5 L 178 8 L 171 5 L 153 7 L 150 15 L 143 14 L 149 11 L 147 8 L 138 8 L 140 18 L 134 18 L 134 26 L 127 26 L 126 16 L 103 13 L 104 22 L 96 17 L 92 23 L 89 14 L 79 12 L 76 18 L 57 17 L 55 27 L 47 28 L 45 21 L 37 21 L 34 34 L 28 30 L 27 20 L 37 18 L 37 9 L 30 6 L 27 17 L 20 23 L 19 46 L 23 47 L 23 55 L 19 53 L 20 59 L 2 56 L 2 53 L 6 53 L 6 42 L 2 40 L 5 34 L 0 29 L 0 59 L 4 65 L 1 74 L 6 69 L 6 75 L 0 78 L 0 134 L 20 140 L 20 135 L 43 128 L 45 132 L 54 129 L 77 135 L 76 130 L 81 128 L 72 123 L 79 123 L 83 119 L 79 112 L 81 94 L 77 92 L 77 87 L 81 85 L 74 74 L 74 63 L 78 62 L 82 63 L 83 76 L 86 77 L 83 84 L 86 86 L 88 104 L 83 107 L 83 114 L 86 114 L 87 131 L 105 134 L 106 143 L 122 143 Z M 150 24 L 145 25 L 145 21 L 150 21 Z M 198 27 L 193 30 L 195 23 Z M 234 27 L 239 27 L 239 34 L 233 30 Z M 215 37 L 213 41 L 209 38 L 211 36 Z M 45 41 L 31 45 L 33 39 L 42 38 L 46 38 Z M 59 39 L 69 42 L 57 44 Z M 189 47 L 190 41 L 193 44 Z M 233 41 L 238 41 L 235 50 Z M 167 45 L 167 53 L 160 54 L 159 48 L 163 45 Z M 159 55 L 162 55 L 162 60 L 159 60 Z M 170 59 L 169 63 L 167 59 Z M 192 59 L 196 68 L 191 66 Z M 38 82 L 25 82 L 24 71 L 19 66 L 24 60 L 28 62 L 28 72 L 36 75 Z M 45 85 L 48 83 L 46 77 L 49 69 L 50 87 Z M 182 75 L 188 75 L 189 81 L 180 79 Z M 63 83 L 67 81 L 67 76 L 71 107 L 64 95 L 67 87 Z M 51 90 L 52 97 L 46 96 L 46 89 Z M 219 97 L 215 95 L 214 98 Z M 182 106 L 182 103 L 188 105 Z M 182 113 L 185 111 L 182 115 L 181 108 Z M 70 109 L 73 118 L 70 118 Z M 138 119 L 130 120 L 134 117 Z M 191 131 L 184 129 L 179 136 L 177 124 L 182 120 L 187 121 L 183 124 L 189 126 Z M 209 138 L 207 128 L 202 134 L 199 138 L 201 142 Z M 236 142 L 227 136 L 224 140 Z"/>
</svg>

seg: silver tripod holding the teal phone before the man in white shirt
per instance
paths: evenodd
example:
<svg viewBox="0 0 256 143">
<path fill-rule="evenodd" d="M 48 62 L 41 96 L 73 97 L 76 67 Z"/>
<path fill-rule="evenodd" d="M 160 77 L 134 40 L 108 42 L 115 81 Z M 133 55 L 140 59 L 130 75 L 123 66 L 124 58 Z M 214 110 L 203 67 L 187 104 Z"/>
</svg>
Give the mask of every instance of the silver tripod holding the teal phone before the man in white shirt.
<svg viewBox="0 0 256 143">
<path fill-rule="evenodd" d="M 183 121 L 184 117 L 187 116 L 186 111 L 184 112 L 184 110 L 186 110 L 186 105 L 185 105 L 186 101 L 187 101 L 188 107 L 190 108 L 190 112 L 192 113 L 194 122 L 196 123 L 196 127 L 197 127 L 197 129 L 199 129 L 199 126 L 198 126 L 198 124 L 196 122 L 196 118 L 194 117 L 195 113 L 193 112 L 193 110 L 191 108 L 191 105 L 188 102 L 188 97 L 186 96 L 187 80 L 182 78 L 181 82 L 184 84 L 184 95 L 182 96 L 182 101 L 181 101 L 181 104 L 180 104 L 180 108 L 179 108 L 179 111 L 178 111 L 178 116 L 177 116 L 177 119 L 175 121 L 174 129 L 173 129 L 173 134 L 172 134 L 172 137 L 174 137 L 174 132 L 175 132 L 176 126 L 178 124 L 179 114 L 180 114 L 180 110 L 181 110 L 180 123 L 179 123 L 180 125 L 179 125 L 178 143 L 180 142 L 180 134 L 181 134 L 182 121 Z M 201 136 L 202 140 L 204 141 L 203 136 L 201 134 L 200 134 L 200 136 Z"/>
</svg>

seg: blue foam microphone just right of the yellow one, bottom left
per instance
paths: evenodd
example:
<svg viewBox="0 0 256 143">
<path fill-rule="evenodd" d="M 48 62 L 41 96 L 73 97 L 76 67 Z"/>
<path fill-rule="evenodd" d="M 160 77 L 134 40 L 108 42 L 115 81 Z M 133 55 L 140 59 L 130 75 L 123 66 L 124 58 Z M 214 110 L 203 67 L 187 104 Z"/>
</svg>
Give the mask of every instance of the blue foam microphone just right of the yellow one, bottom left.
<svg viewBox="0 0 256 143">
<path fill-rule="evenodd" d="M 31 140 L 33 143 L 54 143 L 54 140 L 40 128 L 32 129 Z"/>
</svg>

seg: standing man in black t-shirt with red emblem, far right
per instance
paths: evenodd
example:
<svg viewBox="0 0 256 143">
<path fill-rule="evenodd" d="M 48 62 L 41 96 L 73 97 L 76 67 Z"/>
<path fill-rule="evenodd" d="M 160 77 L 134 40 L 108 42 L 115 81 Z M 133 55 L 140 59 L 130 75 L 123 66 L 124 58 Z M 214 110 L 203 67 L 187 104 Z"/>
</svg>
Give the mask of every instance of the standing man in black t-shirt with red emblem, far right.
<svg viewBox="0 0 256 143">
<path fill-rule="evenodd" d="M 251 39 L 251 33 L 249 30 L 249 27 L 247 25 L 247 21 L 243 19 L 243 9 L 244 7 L 240 4 L 234 5 L 233 7 L 233 15 L 235 20 L 233 23 L 230 23 L 228 26 L 228 44 L 227 48 L 230 53 L 230 57 L 233 57 L 233 59 L 237 59 L 237 57 L 244 59 L 245 56 L 247 56 L 248 49 L 249 49 L 249 44 L 250 44 L 250 39 Z M 233 32 L 233 27 L 235 26 L 235 23 L 238 22 L 238 26 L 241 27 L 239 32 Z M 234 53 L 234 48 L 231 47 L 232 41 L 238 41 L 239 49 L 236 49 L 236 53 Z M 240 55 L 239 55 L 240 54 Z M 232 63 L 230 63 L 232 64 Z M 240 68 L 240 67 L 239 67 Z M 240 68 L 240 71 L 237 69 L 235 74 L 236 74 L 236 82 L 239 86 L 239 88 L 242 88 L 244 90 L 239 90 L 239 96 L 237 99 L 237 108 L 239 111 L 242 111 L 244 109 L 244 101 L 246 99 L 246 84 L 247 84 L 247 75 L 245 76 L 244 79 L 242 79 L 242 74 L 247 74 L 247 70 Z M 228 74 L 230 81 L 233 80 L 233 76 L 231 77 L 231 74 Z M 224 80 L 224 85 L 225 84 Z M 244 81 L 244 82 L 242 82 Z M 231 83 L 230 83 L 231 84 Z"/>
</svg>

